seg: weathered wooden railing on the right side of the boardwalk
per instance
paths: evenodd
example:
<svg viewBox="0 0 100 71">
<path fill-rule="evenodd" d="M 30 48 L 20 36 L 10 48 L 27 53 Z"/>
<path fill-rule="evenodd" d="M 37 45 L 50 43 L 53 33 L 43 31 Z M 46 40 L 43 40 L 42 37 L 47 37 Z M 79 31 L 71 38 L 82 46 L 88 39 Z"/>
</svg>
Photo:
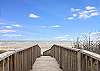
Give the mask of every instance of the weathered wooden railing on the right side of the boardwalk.
<svg viewBox="0 0 100 71">
<path fill-rule="evenodd" d="M 90 51 L 53 45 L 43 55 L 56 58 L 63 71 L 100 71 L 100 55 Z"/>
</svg>

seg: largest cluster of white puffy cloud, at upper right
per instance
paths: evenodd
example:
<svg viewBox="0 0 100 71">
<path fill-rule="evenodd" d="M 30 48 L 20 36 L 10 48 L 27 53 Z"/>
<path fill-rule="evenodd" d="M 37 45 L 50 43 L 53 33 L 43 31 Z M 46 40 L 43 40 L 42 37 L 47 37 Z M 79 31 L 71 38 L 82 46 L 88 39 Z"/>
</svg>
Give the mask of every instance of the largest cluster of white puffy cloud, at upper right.
<svg viewBox="0 0 100 71">
<path fill-rule="evenodd" d="M 100 16 L 100 11 L 94 6 L 86 6 L 85 9 L 71 8 L 72 16 L 68 20 L 73 19 L 88 19 L 94 16 Z"/>
</svg>

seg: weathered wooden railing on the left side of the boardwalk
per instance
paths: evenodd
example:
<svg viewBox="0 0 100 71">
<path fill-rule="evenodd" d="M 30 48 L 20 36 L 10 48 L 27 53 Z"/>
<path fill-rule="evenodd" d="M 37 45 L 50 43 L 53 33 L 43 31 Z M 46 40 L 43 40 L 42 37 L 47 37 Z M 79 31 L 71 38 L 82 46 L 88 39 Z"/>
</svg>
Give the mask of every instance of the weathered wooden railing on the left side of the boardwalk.
<svg viewBox="0 0 100 71">
<path fill-rule="evenodd" d="M 38 45 L 8 50 L 0 54 L 0 71 L 30 71 L 40 55 L 41 49 Z"/>
</svg>

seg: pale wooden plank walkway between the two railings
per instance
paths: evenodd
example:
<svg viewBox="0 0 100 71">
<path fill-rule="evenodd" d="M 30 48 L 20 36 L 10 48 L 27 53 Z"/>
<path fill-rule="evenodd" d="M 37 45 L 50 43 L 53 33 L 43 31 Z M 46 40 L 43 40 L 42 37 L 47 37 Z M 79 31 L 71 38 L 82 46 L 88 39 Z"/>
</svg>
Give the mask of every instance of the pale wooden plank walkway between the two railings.
<svg viewBox="0 0 100 71">
<path fill-rule="evenodd" d="M 37 58 L 31 71 L 62 71 L 57 61 L 50 56 Z"/>
</svg>

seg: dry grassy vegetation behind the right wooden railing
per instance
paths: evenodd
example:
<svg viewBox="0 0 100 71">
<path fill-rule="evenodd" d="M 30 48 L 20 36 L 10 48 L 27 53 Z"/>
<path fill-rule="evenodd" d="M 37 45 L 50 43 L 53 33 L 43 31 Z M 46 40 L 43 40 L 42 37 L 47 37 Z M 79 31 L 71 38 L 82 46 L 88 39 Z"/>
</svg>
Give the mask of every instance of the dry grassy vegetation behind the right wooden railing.
<svg viewBox="0 0 100 71">
<path fill-rule="evenodd" d="M 91 40 L 90 36 L 84 38 L 83 40 L 77 38 L 77 41 L 74 43 L 74 48 L 88 50 L 97 54 L 100 54 L 100 40 L 98 39 Z M 95 37 L 96 38 L 96 37 Z"/>
</svg>

